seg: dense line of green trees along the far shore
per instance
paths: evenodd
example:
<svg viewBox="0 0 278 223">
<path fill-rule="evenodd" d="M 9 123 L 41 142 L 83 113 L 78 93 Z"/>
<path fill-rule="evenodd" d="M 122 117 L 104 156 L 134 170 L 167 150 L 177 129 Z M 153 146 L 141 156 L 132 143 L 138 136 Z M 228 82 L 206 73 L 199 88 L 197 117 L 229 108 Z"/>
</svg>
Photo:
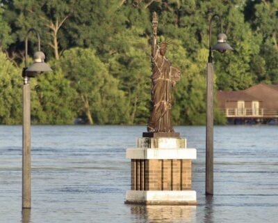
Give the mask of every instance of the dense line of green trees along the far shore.
<svg viewBox="0 0 278 223">
<path fill-rule="evenodd" d="M 31 79 L 31 119 L 40 124 L 145 124 L 151 105 L 152 12 L 167 59 L 181 67 L 172 91 L 176 125 L 205 123 L 208 23 L 222 16 L 234 52 L 214 53 L 215 90 L 278 84 L 277 0 L 1 0 L 0 123 L 22 122 L 28 29 L 40 33 L 53 72 Z M 220 32 L 213 21 L 213 43 Z M 36 50 L 35 36 L 28 54 Z M 224 117 L 215 109 L 215 122 Z"/>
</svg>

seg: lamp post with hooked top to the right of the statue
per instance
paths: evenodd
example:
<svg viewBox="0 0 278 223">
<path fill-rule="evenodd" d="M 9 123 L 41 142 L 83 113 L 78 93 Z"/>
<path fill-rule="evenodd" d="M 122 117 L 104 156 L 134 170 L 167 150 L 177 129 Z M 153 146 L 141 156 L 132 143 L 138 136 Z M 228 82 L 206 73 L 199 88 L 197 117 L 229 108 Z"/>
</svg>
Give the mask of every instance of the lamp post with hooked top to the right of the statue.
<svg viewBox="0 0 278 223">
<path fill-rule="evenodd" d="M 221 33 L 218 34 L 218 43 L 211 47 L 211 25 L 218 17 Z M 233 50 L 227 43 L 227 36 L 222 32 L 222 19 L 220 15 L 213 15 L 209 23 L 209 54 L 206 77 L 206 195 L 213 195 L 213 56 L 212 51 L 225 52 Z"/>
</svg>

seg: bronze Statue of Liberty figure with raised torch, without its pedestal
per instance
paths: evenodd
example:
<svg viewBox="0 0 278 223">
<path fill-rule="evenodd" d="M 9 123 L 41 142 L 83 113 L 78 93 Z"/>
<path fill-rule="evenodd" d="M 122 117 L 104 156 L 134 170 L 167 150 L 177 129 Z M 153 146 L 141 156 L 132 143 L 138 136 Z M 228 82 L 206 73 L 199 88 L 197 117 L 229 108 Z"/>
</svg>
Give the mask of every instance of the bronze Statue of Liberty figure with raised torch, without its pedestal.
<svg viewBox="0 0 278 223">
<path fill-rule="evenodd" d="M 156 47 L 158 17 L 152 20 L 152 114 L 147 125 L 148 132 L 174 132 L 171 125 L 171 88 L 179 81 L 181 69 L 170 66 L 165 57 L 167 45 L 162 42 Z"/>
</svg>

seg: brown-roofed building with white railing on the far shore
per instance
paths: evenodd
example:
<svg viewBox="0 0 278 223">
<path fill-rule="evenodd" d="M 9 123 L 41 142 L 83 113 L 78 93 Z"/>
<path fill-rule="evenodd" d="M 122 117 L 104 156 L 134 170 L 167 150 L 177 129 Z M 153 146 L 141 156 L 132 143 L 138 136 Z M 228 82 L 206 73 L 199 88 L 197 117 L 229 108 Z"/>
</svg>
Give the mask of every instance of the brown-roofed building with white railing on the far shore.
<svg viewBox="0 0 278 223">
<path fill-rule="evenodd" d="M 257 84 L 243 91 L 218 91 L 219 109 L 228 121 L 278 121 L 278 84 Z"/>
</svg>

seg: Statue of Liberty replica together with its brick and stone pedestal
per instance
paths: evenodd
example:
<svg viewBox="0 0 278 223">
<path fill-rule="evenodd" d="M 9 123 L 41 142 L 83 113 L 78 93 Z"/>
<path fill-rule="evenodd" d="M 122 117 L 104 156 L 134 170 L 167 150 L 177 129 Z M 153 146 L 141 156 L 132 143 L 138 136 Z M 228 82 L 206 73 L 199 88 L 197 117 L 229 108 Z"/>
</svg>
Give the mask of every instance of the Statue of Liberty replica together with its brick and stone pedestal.
<svg viewBox="0 0 278 223">
<path fill-rule="evenodd" d="M 127 148 L 131 160 L 131 190 L 125 203 L 140 205 L 196 205 L 191 188 L 192 160 L 196 149 L 187 148 L 171 125 L 171 89 L 181 70 L 165 57 L 167 41 L 156 45 L 158 18 L 152 18 L 152 113 L 147 132 L 137 139 L 137 148 Z"/>
</svg>

